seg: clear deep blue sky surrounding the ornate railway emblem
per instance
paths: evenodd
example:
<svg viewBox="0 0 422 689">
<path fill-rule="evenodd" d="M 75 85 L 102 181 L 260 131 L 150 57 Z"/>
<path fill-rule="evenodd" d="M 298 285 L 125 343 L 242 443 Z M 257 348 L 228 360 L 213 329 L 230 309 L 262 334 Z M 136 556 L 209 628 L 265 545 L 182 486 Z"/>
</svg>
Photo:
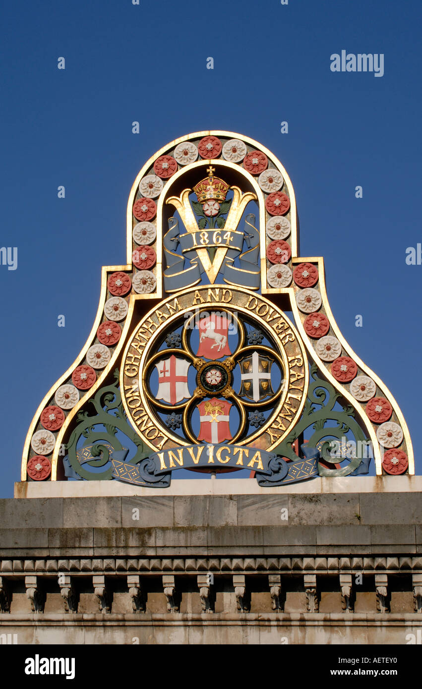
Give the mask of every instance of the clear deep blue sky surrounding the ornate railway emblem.
<svg viewBox="0 0 422 689">
<path fill-rule="evenodd" d="M 422 242 L 421 14 L 413 0 L 3 4 L 1 246 L 18 264 L 0 265 L 2 497 L 90 332 L 101 266 L 125 263 L 134 177 L 207 129 L 257 139 L 288 170 L 301 255 L 325 257 L 336 321 L 401 405 L 419 473 L 422 265 L 405 251 Z M 384 54 L 384 75 L 331 72 L 341 50 Z"/>
</svg>

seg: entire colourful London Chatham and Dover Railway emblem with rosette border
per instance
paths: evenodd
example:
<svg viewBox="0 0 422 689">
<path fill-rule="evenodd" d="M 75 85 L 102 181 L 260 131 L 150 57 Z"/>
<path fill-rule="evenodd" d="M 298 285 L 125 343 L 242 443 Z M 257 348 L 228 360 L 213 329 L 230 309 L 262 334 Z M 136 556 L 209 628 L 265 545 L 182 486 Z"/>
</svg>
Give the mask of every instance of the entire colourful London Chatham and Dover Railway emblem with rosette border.
<svg viewBox="0 0 422 689">
<path fill-rule="evenodd" d="M 183 136 L 143 165 L 127 220 L 127 262 L 103 267 L 92 333 L 34 415 L 22 480 L 414 473 L 398 404 L 336 325 L 323 258 L 299 255 L 274 154 L 232 132 Z"/>
</svg>

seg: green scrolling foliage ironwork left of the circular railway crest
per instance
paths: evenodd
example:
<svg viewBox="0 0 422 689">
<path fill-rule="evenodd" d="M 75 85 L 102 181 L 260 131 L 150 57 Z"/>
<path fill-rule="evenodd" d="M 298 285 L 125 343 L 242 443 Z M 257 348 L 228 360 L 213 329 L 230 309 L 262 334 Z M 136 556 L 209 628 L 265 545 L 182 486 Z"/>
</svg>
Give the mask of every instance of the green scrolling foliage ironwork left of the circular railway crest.
<svg viewBox="0 0 422 689">
<path fill-rule="evenodd" d="M 84 464 L 96 468 L 106 466 L 110 458 L 110 446 L 112 446 L 114 451 L 123 451 L 123 446 L 117 438 L 117 431 L 121 431 L 137 446 L 134 456 L 130 460 L 125 460 L 128 464 L 137 464 L 143 457 L 148 456 L 148 449 L 145 452 L 141 438 L 128 424 L 128 417 L 121 402 L 119 370 L 116 369 L 113 375 L 115 382 L 99 389 L 94 397 L 89 400 L 94 407 L 95 413 L 90 414 L 88 411 L 79 412 L 77 415 L 79 423 L 72 431 L 67 444 L 70 466 L 77 475 L 87 480 L 109 480 L 112 478 L 112 469 L 110 467 L 102 472 L 88 471 L 81 466 L 77 452 L 80 453 L 83 447 L 94 445 L 90 450 L 90 455 L 98 457 L 98 459 L 84 462 Z M 86 440 L 78 448 L 78 442 L 81 437 Z"/>
</svg>

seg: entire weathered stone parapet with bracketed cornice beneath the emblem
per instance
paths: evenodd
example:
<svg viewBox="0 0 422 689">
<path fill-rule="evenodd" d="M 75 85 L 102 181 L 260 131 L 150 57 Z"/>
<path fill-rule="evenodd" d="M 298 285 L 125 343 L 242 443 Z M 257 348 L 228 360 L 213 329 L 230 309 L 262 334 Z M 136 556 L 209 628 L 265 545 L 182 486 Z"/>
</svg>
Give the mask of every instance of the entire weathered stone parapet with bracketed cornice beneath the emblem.
<svg viewBox="0 0 422 689">
<path fill-rule="evenodd" d="M 421 498 L 0 500 L 0 642 L 407 644 L 422 627 Z"/>
</svg>

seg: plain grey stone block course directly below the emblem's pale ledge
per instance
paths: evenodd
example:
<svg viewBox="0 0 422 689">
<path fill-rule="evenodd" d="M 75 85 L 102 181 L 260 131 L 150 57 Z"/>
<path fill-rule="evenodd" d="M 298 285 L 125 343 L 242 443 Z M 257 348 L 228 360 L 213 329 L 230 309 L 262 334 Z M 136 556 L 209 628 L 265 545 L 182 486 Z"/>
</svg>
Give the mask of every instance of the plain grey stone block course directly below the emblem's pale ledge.
<svg viewBox="0 0 422 689">
<path fill-rule="evenodd" d="M 248 481 L 248 484 L 253 482 Z M 361 528 L 363 537 L 366 527 L 422 525 L 421 498 L 422 485 L 421 491 L 370 494 L 352 491 L 263 495 L 171 495 L 165 492 L 157 495 L 156 491 L 148 496 L 3 499 L 0 500 L 0 526 L 3 529 L 153 526 L 189 530 L 222 526 L 340 525 Z"/>
</svg>

